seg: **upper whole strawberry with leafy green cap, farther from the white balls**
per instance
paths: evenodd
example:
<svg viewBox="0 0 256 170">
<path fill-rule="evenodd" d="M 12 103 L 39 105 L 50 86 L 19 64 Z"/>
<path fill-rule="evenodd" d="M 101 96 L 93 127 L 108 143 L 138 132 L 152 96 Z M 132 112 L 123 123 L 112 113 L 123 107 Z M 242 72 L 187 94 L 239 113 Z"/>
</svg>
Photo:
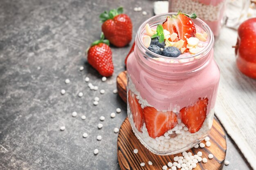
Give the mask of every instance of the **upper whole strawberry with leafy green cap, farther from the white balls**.
<svg viewBox="0 0 256 170">
<path fill-rule="evenodd" d="M 123 8 L 105 11 L 99 16 L 103 22 L 101 29 L 106 39 L 117 47 L 123 47 L 132 40 L 132 21 L 130 17 L 123 14 Z"/>
</svg>

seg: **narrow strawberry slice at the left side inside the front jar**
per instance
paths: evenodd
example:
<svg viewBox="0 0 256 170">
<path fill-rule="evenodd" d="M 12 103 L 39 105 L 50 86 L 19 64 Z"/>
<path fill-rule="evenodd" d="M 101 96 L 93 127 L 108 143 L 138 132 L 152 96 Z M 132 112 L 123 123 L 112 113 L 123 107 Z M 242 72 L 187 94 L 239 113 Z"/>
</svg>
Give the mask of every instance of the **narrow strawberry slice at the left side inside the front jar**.
<svg viewBox="0 0 256 170">
<path fill-rule="evenodd" d="M 136 96 L 137 95 L 135 95 L 132 91 L 129 90 L 128 102 L 129 102 L 130 110 L 132 112 L 132 119 L 137 130 L 141 132 L 141 128 L 143 124 L 143 111 Z"/>
</svg>

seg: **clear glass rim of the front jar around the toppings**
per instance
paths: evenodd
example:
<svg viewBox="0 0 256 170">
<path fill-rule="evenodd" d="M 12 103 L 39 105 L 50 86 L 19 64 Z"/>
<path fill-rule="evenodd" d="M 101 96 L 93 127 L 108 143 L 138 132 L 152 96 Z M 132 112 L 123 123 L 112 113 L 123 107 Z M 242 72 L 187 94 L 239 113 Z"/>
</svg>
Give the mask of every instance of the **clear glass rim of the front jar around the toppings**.
<svg viewBox="0 0 256 170">
<path fill-rule="evenodd" d="M 147 57 L 150 57 L 150 58 L 165 58 L 165 59 L 171 59 L 171 60 L 189 59 L 189 58 L 192 58 L 192 57 L 197 57 L 197 56 L 200 56 L 200 55 L 207 54 L 212 49 L 212 47 L 214 45 L 214 35 L 213 35 L 213 32 L 211 31 L 210 27 L 203 20 L 201 20 L 199 18 L 196 18 L 196 19 L 193 19 L 193 20 L 197 20 L 198 22 L 200 22 L 200 24 L 202 24 L 202 26 L 205 29 L 204 31 L 206 31 L 207 34 L 209 35 L 209 42 L 208 42 L 207 46 L 202 51 L 200 51 L 199 53 L 196 53 L 196 54 L 193 54 L 193 55 L 184 56 L 184 57 L 166 57 L 166 56 L 163 56 L 163 55 L 159 55 L 159 54 L 153 53 L 152 51 L 147 49 L 146 46 L 144 46 L 144 44 L 142 42 L 142 39 L 141 39 L 141 31 L 142 31 L 142 29 L 145 28 L 145 25 L 150 20 L 153 20 L 155 18 L 162 17 L 162 16 L 166 16 L 167 17 L 167 16 L 170 16 L 170 15 L 177 15 L 177 13 L 162 13 L 162 14 L 159 14 L 159 15 L 155 15 L 155 16 L 149 18 L 148 20 L 146 20 L 145 22 L 143 22 L 139 26 L 139 29 L 137 31 L 137 35 L 136 35 L 136 40 L 135 41 L 139 42 L 139 49 L 140 50 L 144 50 L 148 54 L 150 54 L 150 55 L 146 55 Z M 201 57 L 198 57 L 198 58 L 201 58 Z"/>
</svg>

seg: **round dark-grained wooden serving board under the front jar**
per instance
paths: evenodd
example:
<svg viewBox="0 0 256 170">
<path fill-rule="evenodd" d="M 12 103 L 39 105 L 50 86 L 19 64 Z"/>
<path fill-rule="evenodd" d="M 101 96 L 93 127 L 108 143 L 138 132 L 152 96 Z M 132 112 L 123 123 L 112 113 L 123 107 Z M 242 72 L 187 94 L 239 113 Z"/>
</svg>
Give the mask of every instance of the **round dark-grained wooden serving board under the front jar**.
<svg viewBox="0 0 256 170">
<path fill-rule="evenodd" d="M 117 77 L 117 89 L 120 97 L 126 102 L 126 71 L 120 73 Z M 204 148 L 192 148 L 187 152 L 192 152 L 193 155 L 198 151 L 202 152 L 202 158 L 207 158 L 208 162 L 197 163 L 197 166 L 193 170 L 221 170 L 224 165 L 226 157 L 226 137 L 220 123 L 216 118 L 213 120 L 213 126 L 208 135 L 210 137 L 211 146 Z M 205 144 L 205 141 L 203 141 Z M 139 152 L 135 154 L 134 149 L 138 149 Z M 209 159 L 208 155 L 213 154 L 213 159 Z M 181 153 L 168 156 L 155 155 L 146 149 L 137 139 L 132 131 L 132 127 L 128 118 L 126 118 L 121 125 L 119 135 L 117 138 L 117 158 L 121 170 L 162 170 L 164 165 L 168 162 L 174 162 L 175 156 L 182 156 Z M 153 163 L 152 166 L 148 165 L 148 161 Z M 145 166 L 140 166 L 140 163 L 144 162 Z M 171 168 L 168 168 L 171 169 Z M 177 170 L 179 170 L 177 168 Z"/>
</svg>

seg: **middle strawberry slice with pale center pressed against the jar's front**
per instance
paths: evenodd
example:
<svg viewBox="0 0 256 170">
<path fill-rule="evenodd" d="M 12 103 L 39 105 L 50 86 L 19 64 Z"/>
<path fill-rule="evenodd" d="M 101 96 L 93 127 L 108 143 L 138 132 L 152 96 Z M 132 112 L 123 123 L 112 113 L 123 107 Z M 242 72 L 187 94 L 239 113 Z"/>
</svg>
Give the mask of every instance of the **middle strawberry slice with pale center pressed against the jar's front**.
<svg viewBox="0 0 256 170">
<path fill-rule="evenodd" d="M 162 112 L 153 107 L 145 107 L 143 115 L 148 134 L 152 138 L 164 135 L 177 125 L 177 115 L 172 111 Z"/>
</svg>

